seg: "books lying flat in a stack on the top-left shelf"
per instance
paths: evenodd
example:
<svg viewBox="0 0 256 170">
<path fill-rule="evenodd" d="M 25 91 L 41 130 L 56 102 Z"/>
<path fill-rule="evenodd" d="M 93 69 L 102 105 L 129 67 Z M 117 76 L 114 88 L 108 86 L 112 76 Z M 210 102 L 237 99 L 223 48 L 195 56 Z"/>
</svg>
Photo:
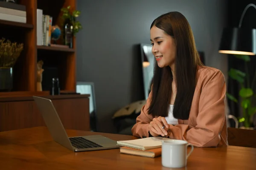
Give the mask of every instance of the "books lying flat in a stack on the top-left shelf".
<svg viewBox="0 0 256 170">
<path fill-rule="evenodd" d="M 26 23 L 26 6 L 0 1 L 0 20 Z"/>
</svg>

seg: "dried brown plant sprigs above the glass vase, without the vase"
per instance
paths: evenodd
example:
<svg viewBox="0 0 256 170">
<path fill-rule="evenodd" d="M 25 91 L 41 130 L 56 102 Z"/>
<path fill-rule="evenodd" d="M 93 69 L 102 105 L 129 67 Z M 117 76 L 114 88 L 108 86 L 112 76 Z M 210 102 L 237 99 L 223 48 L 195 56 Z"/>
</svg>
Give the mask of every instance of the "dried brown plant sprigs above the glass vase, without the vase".
<svg viewBox="0 0 256 170">
<path fill-rule="evenodd" d="M 11 42 L 2 38 L 0 40 L 0 68 L 12 68 L 23 50 L 23 43 Z"/>
</svg>

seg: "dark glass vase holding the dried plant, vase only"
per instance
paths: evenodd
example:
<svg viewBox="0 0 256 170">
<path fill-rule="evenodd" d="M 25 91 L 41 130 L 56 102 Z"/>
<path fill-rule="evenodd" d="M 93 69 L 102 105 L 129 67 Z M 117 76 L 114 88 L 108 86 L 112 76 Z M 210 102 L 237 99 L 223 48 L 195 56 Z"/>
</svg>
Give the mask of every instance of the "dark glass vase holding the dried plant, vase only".
<svg viewBox="0 0 256 170">
<path fill-rule="evenodd" d="M 0 91 L 11 91 L 12 87 L 12 67 L 0 67 Z"/>
</svg>

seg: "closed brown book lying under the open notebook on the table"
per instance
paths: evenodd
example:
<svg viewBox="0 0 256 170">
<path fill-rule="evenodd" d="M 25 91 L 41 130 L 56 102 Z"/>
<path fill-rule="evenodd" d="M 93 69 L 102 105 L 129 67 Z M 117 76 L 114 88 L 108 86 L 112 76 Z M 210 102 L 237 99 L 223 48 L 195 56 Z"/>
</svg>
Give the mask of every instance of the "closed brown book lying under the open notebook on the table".
<svg viewBox="0 0 256 170">
<path fill-rule="evenodd" d="M 162 147 L 149 149 L 149 150 L 138 150 L 138 149 L 123 146 L 123 147 L 120 147 L 120 153 L 155 158 L 157 156 L 161 156 Z"/>
</svg>

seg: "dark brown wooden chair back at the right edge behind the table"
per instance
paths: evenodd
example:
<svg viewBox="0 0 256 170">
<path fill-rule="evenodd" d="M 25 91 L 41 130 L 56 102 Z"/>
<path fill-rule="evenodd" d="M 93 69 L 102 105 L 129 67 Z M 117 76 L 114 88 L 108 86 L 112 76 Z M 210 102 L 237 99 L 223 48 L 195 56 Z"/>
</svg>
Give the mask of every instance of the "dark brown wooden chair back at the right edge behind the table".
<svg viewBox="0 0 256 170">
<path fill-rule="evenodd" d="M 227 133 L 229 145 L 256 148 L 256 130 L 228 127 Z"/>
</svg>

